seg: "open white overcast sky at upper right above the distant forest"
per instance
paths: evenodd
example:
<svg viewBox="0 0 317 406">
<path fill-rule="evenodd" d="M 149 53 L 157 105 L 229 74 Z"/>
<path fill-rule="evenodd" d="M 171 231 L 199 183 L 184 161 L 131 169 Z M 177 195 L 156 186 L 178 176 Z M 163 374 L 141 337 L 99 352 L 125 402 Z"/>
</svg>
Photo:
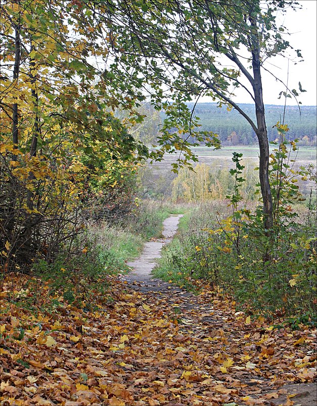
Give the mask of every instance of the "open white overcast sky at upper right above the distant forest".
<svg viewBox="0 0 317 406">
<path fill-rule="evenodd" d="M 298 101 L 302 102 L 302 105 L 317 104 L 316 96 L 316 20 L 317 20 L 317 0 L 299 0 L 298 3 L 302 5 L 301 10 L 293 11 L 289 10 L 281 22 L 285 25 L 292 35 L 287 36 L 290 45 L 296 49 L 301 50 L 304 61 L 295 65 L 292 61 L 289 62 L 289 88 L 297 89 L 298 82 L 301 83 L 302 89 L 307 92 L 299 95 Z M 295 51 L 292 52 L 294 57 Z M 281 78 L 284 83 L 287 81 L 287 67 L 288 61 L 285 58 L 275 57 L 268 60 L 268 62 L 276 65 L 272 66 L 266 64 L 266 69 L 270 69 L 274 74 Z M 281 83 L 278 83 L 276 79 L 269 73 L 262 71 L 263 82 L 263 98 L 265 104 L 284 104 L 285 99 L 282 97 L 278 99 L 279 93 L 285 91 L 285 87 Z M 236 90 L 236 97 L 234 101 L 237 103 L 252 103 L 252 99 L 248 97 L 246 92 L 242 89 Z M 202 97 L 199 102 L 211 102 L 209 97 Z M 296 105 L 294 98 L 287 99 L 288 105 Z"/>
</svg>

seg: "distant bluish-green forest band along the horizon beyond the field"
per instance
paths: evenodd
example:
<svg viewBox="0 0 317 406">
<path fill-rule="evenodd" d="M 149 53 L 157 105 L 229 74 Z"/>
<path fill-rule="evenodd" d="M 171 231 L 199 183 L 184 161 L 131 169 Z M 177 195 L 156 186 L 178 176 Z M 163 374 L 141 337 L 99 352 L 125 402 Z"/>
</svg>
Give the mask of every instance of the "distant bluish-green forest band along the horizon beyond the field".
<svg viewBox="0 0 317 406">
<path fill-rule="evenodd" d="M 190 109 L 194 103 L 188 103 Z M 255 120 L 253 104 L 240 104 L 241 108 Z M 274 141 L 278 134 L 277 121 L 283 117 L 284 106 L 268 104 L 265 106 L 266 126 L 269 141 Z M 200 118 L 202 130 L 212 131 L 219 135 L 222 145 L 253 145 L 257 138 L 250 124 L 233 109 L 217 107 L 216 103 L 197 103 L 195 115 Z M 163 118 L 163 115 L 162 115 Z M 288 125 L 288 139 L 299 138 L 299 145 L 316 145 L 316 106 L 286 106 L 285 124 Z M 195 140 L 192 140 L 195 141 Z"/>
</svg>

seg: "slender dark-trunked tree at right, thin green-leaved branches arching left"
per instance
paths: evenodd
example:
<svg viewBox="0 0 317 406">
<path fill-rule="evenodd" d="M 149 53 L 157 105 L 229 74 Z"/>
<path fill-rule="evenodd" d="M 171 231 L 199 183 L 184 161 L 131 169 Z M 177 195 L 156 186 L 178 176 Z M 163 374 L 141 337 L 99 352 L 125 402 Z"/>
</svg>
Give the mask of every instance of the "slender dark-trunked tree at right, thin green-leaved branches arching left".
<svg viewBox="0 0 317 406">
<path fill-rule="evenodd" d="M 193 114 L 185 102 L 211 96 L 219 105 L 236 109 L 254 130 L 259 144 L 259 181 L 265 228 L 273 227 L 273 203 L 268 177 L 269 148 L 261 72 L 270 58 L 287 56 L 290 48 L 277 22 L 278 13 L 294 8 L 293 1 L 188 0 L 107 1 L 106 17 L 111 51 L 118 72 L 151 86 L 152 102 L 166 107 L 170 128 L 190 123 Z M 301 57 L 297 50 L 297 56 Z M 135 76 L 134 76 L 135 77 Z M 254 102 L 254 121 L 234 102 L 235 89 L 243 88 Z M 300 87 L 301 90 L 301 87 Z M 166 96 L 166 91 L 167 96 Z M 289 94 L 289 93 L 288 93 Z M 298 95 L 296 90 L 293 96 Z M 173 104 L 167 102 L 172 99 Z M 187 118 L 185 118 L 187 117 Z M 176 133 L 177 131 L 175 131 Z M 170 132 L 161 135 L 167 143 Z M 205 139 L 210 140 L 205 134 Z M 214 144 L 215 140 L 211 139 Z M 175 142 L 176 150 L 193 155 L 188 143 Z"/>
</svg>

